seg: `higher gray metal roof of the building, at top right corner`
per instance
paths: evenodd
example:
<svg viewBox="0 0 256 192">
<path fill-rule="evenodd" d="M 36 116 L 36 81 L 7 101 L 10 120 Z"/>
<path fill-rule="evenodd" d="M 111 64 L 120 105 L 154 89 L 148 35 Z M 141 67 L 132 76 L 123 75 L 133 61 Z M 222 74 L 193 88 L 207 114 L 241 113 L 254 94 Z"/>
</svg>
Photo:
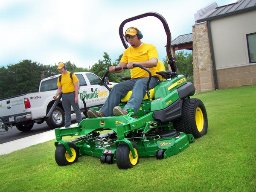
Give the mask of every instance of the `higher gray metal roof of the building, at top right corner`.
<svg viewBox="0 0 256 192">
<path fill-rule="evenodd" d="M 238 0 L 236 3 L 216 7 L 215 10 L 210 12 L 208 15 L 201 19 L 198 19 L 197 23 L 229 15 L 234 15 L 254 9 L 256 9 L 256 0 Z"/>
</svg>

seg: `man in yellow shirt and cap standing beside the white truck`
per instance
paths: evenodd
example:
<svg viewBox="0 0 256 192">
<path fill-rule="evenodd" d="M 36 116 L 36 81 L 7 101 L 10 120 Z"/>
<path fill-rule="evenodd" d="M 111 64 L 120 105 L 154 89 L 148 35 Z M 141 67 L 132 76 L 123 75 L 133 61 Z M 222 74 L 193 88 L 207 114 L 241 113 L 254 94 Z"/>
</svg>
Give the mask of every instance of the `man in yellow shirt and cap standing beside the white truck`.
<svg viewBox="0 0 256 192">
<path fill-rule="evenodd" d="M 58 68 L 62 74 L 58 78 L 57 86 L 58 90 L 54 96 L 54 99 L 61 93 L 62 90 L 62 106 L 65 111 L 65 127 L 71 125 L 71 106 L 76 113 L 76 122 L 79 124 L 82 121 L 81 112 L 78 105 L 78 82 L 75 74 L 71 74 L 67 71 L 67 67 L 64 63 L 59 63 Z M 72 77 L 72 78 L 71 78 Z"/>
</svg>

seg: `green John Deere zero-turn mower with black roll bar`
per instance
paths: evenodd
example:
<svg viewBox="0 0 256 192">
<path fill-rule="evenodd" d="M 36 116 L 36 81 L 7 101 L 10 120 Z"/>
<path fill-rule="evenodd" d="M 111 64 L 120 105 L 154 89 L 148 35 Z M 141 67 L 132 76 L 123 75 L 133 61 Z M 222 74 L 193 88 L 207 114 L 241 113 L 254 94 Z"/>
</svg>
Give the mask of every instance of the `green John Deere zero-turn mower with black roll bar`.
<svg viewBox="0 0 256 192">
<path fill-rule="evenodd" d="M 116 163 L 119 169 L 128 169 L 137 165 L 140 157 L 156 156 L 157 159 L 164 159 L 178 154 L 195 138 L 207 133 L 207 112 L 203 102 L 190 99 L 189 96 L 195 94 L 194 85 L 187 82 L 183 75 L 177 74 L 177 62 L 170 52 L 171 33 L 166 20 L 155 12 L 124 20 L 119 27 L 124 47 L 128 47 L 123 38 L 125 23 L 147 16 L 157 17 L 163 23 L 167 35 L 168 63 L 172 70 L 157 72 L 163 80 L 153 90 L 147 90 L 137 114 L 130 108 L 126 116 L 83 119 L 76 127 L 56 128 L 55 160 L 58 165 L 75 163 L 78 157 L 87 154 L 100 157 L 101 163 Z M 150 71 L 139 64 L 134 67 L 149 73 L 149 83 Z M 102 77 L 102 83 L 107 88 L 104 79 L 108 73 L 106 71 Z M 122 99 L 119 106 L 123 108 L 126 102 Z M 99 111 L 99 108 L 93 109 Z M 65 142 L 62 140 L 64 136 L 80 137 Z"/>
</svg>

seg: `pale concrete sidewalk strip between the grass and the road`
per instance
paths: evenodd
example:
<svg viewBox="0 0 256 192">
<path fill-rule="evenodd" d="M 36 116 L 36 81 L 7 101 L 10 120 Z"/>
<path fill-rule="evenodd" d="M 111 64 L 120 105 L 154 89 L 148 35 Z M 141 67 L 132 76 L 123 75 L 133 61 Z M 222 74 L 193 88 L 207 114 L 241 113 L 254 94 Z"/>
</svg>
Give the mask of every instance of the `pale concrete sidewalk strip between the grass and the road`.
<svg viewBox="0 0 256 192">
<path fill-rule="evenodd" d="M 76 124 L 71 125 L 71 127 L 76 126 Z M 13 151 L 17 151 L 31 145 L 36 145 L 38 143 L 44 143 L 49 140 L 55 139 L 54 129 L 51 131 L 46 131 L 44 133 L 35 134 L 29 137 L 24 137 L 18 140 L 10 141 L 7 143 L 0 144 L 0 155 L 9 154 Z"/>
</svg>

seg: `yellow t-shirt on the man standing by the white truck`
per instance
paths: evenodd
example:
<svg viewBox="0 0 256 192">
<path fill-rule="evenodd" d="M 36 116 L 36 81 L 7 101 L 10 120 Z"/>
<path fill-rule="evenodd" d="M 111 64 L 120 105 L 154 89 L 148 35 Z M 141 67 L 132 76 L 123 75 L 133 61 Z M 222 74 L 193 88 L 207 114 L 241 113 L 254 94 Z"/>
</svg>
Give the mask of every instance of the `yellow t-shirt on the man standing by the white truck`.
<svg viewBox="0 0 256 192">
<path fill-rule="evenodd" d="M 78 82 L 79 80 L 77 79 L 75 74 L 72 75 L 72 78 L 73 78 L 73 83 L 70 78 L 69 71 L 66 74 L 61 75 L 61 82 L 60 82 L 60 78 L 58 78 L 57 86 L 62 87 L 62 93 L 70 93 L 75 91 L 74 83 Z"/>
</svg>

